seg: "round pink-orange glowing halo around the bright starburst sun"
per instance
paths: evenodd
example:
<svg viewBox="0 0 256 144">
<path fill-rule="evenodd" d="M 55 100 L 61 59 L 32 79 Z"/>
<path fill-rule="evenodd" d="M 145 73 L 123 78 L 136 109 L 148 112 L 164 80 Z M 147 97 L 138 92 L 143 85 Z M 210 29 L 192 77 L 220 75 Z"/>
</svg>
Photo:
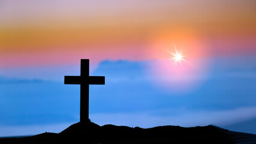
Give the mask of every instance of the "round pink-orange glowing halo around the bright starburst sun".
<svg viewBox="0 0 256 144">
<path fill-rule="evenodd" d="M 152 85 L 169 94 L 195 91 L 207 72 L 207 45 L 189 29 L 163 29 L 153 34 L 147 66 Z"/>
</svg>

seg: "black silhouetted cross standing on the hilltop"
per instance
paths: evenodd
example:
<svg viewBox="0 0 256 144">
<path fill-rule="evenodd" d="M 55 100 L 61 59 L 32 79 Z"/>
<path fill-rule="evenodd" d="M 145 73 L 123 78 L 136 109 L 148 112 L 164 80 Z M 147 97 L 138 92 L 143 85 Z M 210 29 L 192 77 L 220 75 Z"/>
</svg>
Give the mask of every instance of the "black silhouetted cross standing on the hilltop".
<svg viewBox="0 0 256 144">
<path fill-rule="evenodd" d="M 89 119 L 89 85 L 105 85 L 105 76 L 89 76 L 89 59 L 81 59 L 81 76 L 64 76 L 64 84 L 80 85 L 80 122 Z"/>
</svg>

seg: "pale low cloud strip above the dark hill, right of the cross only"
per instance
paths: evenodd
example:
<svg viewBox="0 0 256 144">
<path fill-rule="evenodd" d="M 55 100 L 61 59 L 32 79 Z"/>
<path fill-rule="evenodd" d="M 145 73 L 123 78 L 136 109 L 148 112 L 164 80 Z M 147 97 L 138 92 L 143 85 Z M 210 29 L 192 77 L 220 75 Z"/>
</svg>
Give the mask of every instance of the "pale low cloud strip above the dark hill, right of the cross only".
<svg viewBox="0 0 256 144">
<path fill-rule="evenodd" d="M 90 115 L 91 121 L 99 124 L 127 125 L 130 127 L 156 127 L 159 125 L 180 125 L 181 127 L 195 127 L 203 125 L 235 124 L 256 118 L 256 107 L 241 107 L 231 110 L 189 111 L 177 110 L 178 115 L 151 115 L 148 113 L 97 113 Z M 155 112 L 154 112 L 155 113 Z M 159 112 L 160 113 L 160 112 Z"/>
</svg>

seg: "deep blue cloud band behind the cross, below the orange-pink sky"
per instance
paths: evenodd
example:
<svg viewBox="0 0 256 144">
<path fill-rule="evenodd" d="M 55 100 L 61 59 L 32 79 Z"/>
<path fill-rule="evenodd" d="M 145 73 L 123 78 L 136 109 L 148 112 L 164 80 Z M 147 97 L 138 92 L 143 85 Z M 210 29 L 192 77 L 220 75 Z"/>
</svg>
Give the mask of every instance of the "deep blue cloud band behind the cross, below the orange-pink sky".
<svg viewBox="0 0 256 144">
<path fill-rule="evenodd" d="M 99 113 L 148 113 L 164 119 L 186 112 L 256 106 L 254 63 L 236 65 L 229 58 L 216 61 L 204 85 L 189 94 L 176 94 L 152 85 L 145 68 L 150 62 L 103 61 L 98 65 L 91 75 L 105 76 L 106 85 L 90 85 L 90 115 L 95 121 L 104 121 L 95 116 Z M 79 90 L 79 85 L 64 82 L 0 77 L 0 126 L 78 122 Z"/>
</svg>

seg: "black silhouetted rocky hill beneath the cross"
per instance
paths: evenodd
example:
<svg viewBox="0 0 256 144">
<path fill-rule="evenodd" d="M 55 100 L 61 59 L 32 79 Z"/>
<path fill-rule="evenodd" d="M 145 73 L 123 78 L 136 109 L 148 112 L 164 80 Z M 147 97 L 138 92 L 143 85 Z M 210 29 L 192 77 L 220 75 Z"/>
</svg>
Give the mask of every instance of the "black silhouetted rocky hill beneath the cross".
<svg viewBox="0 0 256 144">
<path fill-rule="evenodd" d="M 46 132 L 29 137 L 2 138 L 0 143 L 256 143 L 256 135 L 229 131 L 213 125 L 132 128 L 78 122 L 61 133 Z"/>
</svg>

